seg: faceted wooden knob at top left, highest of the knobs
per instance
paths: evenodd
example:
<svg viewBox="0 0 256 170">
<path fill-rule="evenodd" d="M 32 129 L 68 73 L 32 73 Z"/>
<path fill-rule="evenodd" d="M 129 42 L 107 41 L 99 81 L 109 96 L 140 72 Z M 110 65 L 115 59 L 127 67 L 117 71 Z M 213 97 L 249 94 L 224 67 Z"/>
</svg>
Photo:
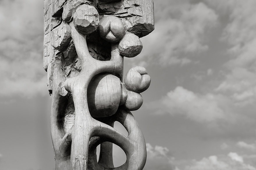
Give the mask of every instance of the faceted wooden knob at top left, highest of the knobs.
<svg viewBox="0 0 256 170">
<path fill-rule="evenodd" d="M 90 5 L 83 4 L 79 6 L 74 13 L 74 26 L 81 34 L 90 34 L 97 30 L 98 11 Z"/>
</svg>

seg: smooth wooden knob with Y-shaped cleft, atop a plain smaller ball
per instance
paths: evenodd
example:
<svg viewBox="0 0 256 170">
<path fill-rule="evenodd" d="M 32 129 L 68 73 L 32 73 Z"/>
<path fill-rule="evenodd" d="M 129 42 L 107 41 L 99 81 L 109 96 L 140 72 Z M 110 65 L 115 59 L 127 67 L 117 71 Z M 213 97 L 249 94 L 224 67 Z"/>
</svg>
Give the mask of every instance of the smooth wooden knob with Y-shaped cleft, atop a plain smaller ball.
<svg viewBox="0 0 256 170">
<path fill-rule="evenodd" d="M 150 76 L 142 66 L 131 68 L 125 75 L 124 83 L 128 90 L 141 93 L 150 86 Z"/>
</svg>

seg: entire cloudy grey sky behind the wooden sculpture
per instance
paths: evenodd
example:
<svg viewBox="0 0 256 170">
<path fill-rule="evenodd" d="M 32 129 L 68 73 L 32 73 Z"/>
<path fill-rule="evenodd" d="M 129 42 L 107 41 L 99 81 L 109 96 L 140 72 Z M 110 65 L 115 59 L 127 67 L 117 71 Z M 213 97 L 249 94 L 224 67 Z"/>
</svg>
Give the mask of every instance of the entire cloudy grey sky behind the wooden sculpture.
<svg viewBox="0 0 256 170">
<path fill-rule="evenodd" d="M 151 85 L 133 111 L 144 170 L 256 170 L 256 1 L 154 0 L 155 30 L 124 73 Z M 54 170 L 43 1 L 0 0 L 0 169 Z M 119 124 L 115 128 L 127 133 Z M 114 164 L 125 155 L 114 147 Z"/>
</svg>

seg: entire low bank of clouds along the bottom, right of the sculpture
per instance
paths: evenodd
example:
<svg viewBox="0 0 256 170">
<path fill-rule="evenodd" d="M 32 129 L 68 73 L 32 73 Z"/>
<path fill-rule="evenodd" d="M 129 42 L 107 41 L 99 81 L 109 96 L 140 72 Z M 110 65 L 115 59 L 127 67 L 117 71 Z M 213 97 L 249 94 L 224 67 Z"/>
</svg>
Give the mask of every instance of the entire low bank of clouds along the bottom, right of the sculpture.
<svg viewBox="0 0 256 170">
<path fill-rule="evenodd" d="M 230 152 L 227 155 L 211 155 L 201 160 L 176 160 L 166 147 L 147 143 L 147 162 L 145 170 L 256 170 L 256 155 L 239 155 Z"/>
</svg>

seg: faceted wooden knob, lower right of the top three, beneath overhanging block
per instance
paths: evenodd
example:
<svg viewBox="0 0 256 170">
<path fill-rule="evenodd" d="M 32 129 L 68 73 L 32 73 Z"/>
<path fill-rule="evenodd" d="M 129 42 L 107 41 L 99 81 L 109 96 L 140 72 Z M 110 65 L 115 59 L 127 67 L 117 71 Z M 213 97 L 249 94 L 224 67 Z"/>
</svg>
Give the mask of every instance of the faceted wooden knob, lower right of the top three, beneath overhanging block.
<svg viewBox="0 0 256 170">
<path fill-rule="evenodd" d="M 121 55 L 131 58 L 141 53 L 142 47 L 140 38 L 137 35 L 128 33 L 120 41 L 118 49 Z"/>
</svg>

